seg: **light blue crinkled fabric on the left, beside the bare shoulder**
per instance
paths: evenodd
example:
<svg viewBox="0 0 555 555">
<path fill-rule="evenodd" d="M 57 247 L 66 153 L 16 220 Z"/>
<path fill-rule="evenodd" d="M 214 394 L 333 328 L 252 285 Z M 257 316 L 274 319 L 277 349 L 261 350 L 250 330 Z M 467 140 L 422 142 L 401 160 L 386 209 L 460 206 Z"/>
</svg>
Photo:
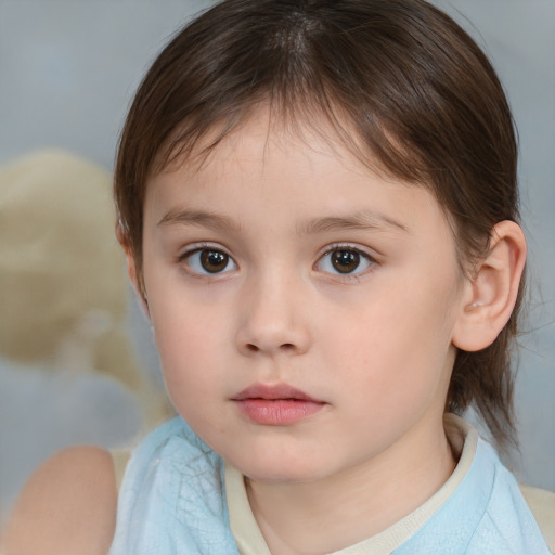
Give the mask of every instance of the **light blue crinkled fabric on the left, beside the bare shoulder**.
<svg viewBox="0 0 555 555">
<path fill-rule="evenodd" d="M 109 555 L 238 555 L 223 461 L 176 417 L 128 463 Z"/>
</svg>

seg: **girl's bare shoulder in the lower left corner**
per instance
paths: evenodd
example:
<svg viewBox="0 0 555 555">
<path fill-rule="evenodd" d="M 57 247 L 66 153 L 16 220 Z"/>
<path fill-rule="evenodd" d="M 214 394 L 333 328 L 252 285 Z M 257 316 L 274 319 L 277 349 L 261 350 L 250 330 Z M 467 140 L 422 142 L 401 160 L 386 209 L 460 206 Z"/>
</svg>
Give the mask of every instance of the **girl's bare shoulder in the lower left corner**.
<svg viewBox="0 0 555 555">
<path fill-rule="evenodd" d="M 65 449 L 25 486 L 2 534 L 2 555 L 106 555 L 116 507 L 111 454 L 88 446 Z"/>
</svg>

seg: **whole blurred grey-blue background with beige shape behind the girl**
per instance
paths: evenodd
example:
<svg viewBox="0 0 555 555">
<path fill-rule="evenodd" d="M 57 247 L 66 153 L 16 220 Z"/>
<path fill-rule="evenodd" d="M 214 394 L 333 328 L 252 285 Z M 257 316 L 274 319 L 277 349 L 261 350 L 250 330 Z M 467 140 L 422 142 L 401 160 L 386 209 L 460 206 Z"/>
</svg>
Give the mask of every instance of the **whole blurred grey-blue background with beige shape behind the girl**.
<svg viewBox="0 0 555 555">
<path fill-rule="evenodd" d="M 144 70 L 210 3 L 0 0 L 0 522 L 56 450 L 129 449 L 171 414 L 109 173 Z M 555 489 L 555 1 L 435 3 L 492 59 L 520 134 L 531 302 L 508 464 Z"/>
</svg>

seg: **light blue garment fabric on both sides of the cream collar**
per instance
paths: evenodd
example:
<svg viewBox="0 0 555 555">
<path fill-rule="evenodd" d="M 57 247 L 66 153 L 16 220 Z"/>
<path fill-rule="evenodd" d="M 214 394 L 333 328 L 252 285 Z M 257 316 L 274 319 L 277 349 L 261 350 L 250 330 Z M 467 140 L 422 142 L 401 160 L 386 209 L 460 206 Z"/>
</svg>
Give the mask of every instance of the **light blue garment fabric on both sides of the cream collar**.
<svg viewBox="0 0 555 555">
<path fill-rule="evenodd" d="M 111 555 L 130 553 L 240 553 L 230 530 L 224 463 L 180 417 L 152 433 L 126 472 Z M 345 553 L 375 552 L 361 542 Z M 481 439 L 456 489 L 391 553 L 550 555 L 515 478 Z"/>
</svg>

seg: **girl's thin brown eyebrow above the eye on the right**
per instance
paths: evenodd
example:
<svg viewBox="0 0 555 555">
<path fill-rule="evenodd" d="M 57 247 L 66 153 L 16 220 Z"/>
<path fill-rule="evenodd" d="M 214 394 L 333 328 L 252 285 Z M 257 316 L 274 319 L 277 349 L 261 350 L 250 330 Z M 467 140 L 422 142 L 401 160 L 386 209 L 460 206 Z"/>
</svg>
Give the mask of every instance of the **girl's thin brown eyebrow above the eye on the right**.
<svg viewBox="0 0 555 555">
<path fill-rule="evenodd" d="M 409 231 L 405 225 L 389 216 L 374 210 L 361 210 L 347 216 L 328 216 L 310 220 L 299 228 L 298 233 L 312 234 L 346 230 L 384 231 L 387 229 L 399 230 L 405 233 Z"/>
</svg>

